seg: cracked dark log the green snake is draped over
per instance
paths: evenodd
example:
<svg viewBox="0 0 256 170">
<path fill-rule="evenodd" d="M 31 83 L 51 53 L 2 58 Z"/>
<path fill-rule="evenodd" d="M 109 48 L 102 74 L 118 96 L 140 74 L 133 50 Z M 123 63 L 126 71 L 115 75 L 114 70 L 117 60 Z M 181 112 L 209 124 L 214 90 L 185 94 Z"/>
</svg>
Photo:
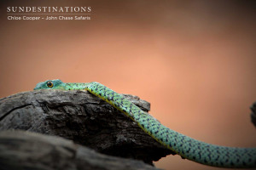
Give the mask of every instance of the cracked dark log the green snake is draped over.
<svg viewBox="0 0 256 170">
<path fill-rule="evenodd" d="M 127 99 L 149 110 L 137 96 Z M 111 156 L 148 164 L 172 154 L 114 109 L 86 91 L 37 90 L 0 99 L 0 130 L 22 129 L 61 136 Z"/>
</svg>

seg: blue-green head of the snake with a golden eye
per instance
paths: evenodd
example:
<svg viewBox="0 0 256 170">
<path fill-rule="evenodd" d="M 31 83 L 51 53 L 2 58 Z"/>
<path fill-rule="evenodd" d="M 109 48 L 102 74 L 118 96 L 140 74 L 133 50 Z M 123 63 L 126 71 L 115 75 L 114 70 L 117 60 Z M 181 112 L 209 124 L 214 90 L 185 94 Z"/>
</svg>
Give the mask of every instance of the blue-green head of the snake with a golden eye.
<svg viewBox="0 0 256 170">
<path fill-rule="evenodd" d="M 65 83 L 61 80 L 47 80 L 45 82 L 39 82 L 34 90 L 39 89 L 65 89 Z"/>
</svg>

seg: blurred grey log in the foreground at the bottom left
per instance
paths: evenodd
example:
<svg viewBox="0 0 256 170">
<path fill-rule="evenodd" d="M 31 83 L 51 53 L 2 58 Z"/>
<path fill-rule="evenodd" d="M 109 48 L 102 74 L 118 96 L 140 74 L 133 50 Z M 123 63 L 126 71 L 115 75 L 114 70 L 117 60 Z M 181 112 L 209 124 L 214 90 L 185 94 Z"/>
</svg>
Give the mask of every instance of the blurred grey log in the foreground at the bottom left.
<svg viewBox="0 0 256 170">
<path fill-rule="evenodd" d="M 143 161 L 106 156 L 60 137 L 21 131 L 0 132 L 2 170 L 156 170 Z"/>
</svg>

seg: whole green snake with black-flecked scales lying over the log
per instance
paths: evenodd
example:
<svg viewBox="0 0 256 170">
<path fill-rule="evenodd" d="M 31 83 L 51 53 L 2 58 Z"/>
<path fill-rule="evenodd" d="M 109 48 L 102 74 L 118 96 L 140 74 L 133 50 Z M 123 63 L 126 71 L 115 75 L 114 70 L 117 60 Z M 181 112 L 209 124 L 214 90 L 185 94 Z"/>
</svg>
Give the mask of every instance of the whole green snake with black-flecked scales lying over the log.
<svg viewBox="0 0 256 170">
<path fill-rule="evenodd" d="M 34 90 L 38 89 L 87 90 L 125 113 L 160 144 L 191 161 L 214 167 L 256 167 L 256 148 L 207 144 L 177 133 L 132 104 L 122 94 L 114 92 L 99 82 L 65 83 L 59 79 L 48 80 L 39 82 Z"/>
</svg>

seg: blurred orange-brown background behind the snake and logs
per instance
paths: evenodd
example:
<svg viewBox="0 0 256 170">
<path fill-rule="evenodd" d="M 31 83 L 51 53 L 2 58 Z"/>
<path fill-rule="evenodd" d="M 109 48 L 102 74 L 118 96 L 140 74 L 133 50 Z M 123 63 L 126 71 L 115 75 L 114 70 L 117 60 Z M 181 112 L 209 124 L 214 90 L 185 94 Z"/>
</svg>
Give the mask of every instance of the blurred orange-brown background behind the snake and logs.
<svg viewBox="0 0 256 170">
<path fill-rule="evenodd" d="M 8 6 L 82 6 L 91 20 L 7 20 Z M 101 82 L 167 127 L 255 147 L 254 1 L 1 1 L 0 97 L 38 82 Z M 164 169 L 215 169 L 167 156 Z"/>
</svg>

